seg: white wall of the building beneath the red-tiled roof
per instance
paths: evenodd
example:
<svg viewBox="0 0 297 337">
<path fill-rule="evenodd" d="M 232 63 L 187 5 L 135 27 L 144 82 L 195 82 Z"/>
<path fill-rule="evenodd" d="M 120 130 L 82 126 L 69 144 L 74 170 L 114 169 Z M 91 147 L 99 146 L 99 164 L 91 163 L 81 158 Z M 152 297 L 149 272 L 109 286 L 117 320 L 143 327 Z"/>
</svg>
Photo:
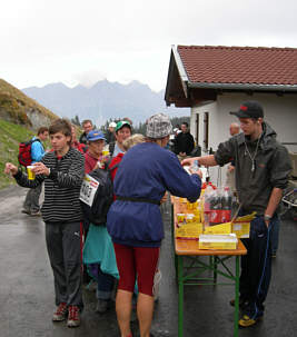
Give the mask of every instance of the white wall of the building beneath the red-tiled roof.
<svg viewBox="0 0 297 337">
<path fill-rule="evenodd" d="M 267 121 L 276 130 L 280 142 L 297 142 L 297 95 L 277 96 L 275 93 L 224 93 L 217 101 L 206 106 L 191 108 L 191 133 L 196 137 L 196 113 L 199 113 L 199 145 L 204 140 L 204 112 L 209 112 L 209 147 L 217 149 L 219 142 L 227 140 L 229 125 L 238 121 L 229 111 L 237 111 L 240 103 L 247 100 L 257 100 L 261 103 Z M 297 152 L 297 146 L 288 146 L 290 151 Z M 217 169 L 211 170 L 211 180 L 217 180 Z M 225 169 L 222 172 L 225 177 Z"/>
</svg>

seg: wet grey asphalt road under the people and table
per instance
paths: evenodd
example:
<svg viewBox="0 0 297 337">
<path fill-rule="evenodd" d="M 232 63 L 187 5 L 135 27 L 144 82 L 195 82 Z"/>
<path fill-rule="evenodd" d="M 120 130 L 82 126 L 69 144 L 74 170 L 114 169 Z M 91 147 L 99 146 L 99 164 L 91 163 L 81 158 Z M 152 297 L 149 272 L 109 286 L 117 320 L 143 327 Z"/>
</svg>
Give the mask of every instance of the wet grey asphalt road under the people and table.
<svg viewBox="0 0 297 337">
<path fill-rule="evenodd" d="M 26 189 L 0 191 L 0 336 L 88 337 L 119 336 L 115 309 L 95 313 L 95 293 L 85 289 L 85 310 L 79 328 L 52 324 L 53 280 L 40 218 L 21 214 Z M 155 336 L 177 336 L 177 285 L 170 238 L 169 207 L 164 207 L 166 239 L 161 248 L 162 280 L 155 310 Z M 286 219 L 280 247 L 274 260 L 270 291 L 263 323 L 239 330 L 239 337 L 287 337 L 297 333 L 297 224 Z M 234 288 L 228 286 L 185 288 L 185 337 L 232 336 L 234 310 L 228 305 Z M 137 324 L 132 323 L 135 336 Z"/>
</svg>

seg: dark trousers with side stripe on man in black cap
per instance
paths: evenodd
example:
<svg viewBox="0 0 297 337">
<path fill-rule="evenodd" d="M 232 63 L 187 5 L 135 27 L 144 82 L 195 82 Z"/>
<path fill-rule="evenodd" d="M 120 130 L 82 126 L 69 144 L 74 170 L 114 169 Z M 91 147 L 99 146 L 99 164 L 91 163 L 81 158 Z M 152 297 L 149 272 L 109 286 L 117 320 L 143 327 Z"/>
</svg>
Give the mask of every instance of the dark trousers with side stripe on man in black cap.
<svg viewBox="0 0 297 337">
<path fill-rule="evenodd" d="M 270 232 L 277 217 L 274 217 L 267 228 L 263 217 L 256 217 L 250 222 L 250 236 L 242 239 L 247 255 L 241 257 L 241 275 L 239 284 L 240 298 L 249 303 L 246 313 L 251 318 L 264 314 L 271 278 L 271 239 Z"/>
</svg>

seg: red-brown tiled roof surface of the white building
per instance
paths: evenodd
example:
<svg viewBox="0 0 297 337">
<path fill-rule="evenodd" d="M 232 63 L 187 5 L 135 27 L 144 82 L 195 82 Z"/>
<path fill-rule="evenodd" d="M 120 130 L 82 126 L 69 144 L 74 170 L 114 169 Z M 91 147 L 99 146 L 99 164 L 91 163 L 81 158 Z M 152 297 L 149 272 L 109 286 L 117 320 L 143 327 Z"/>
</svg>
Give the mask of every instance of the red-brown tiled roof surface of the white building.
<svg viewBox="0 0 297 337">
<path fill-rule="evenodd" d="M 195 83 L 297 85 L 297 49 L 178 46 L 184 69 Z"/>
</svg>

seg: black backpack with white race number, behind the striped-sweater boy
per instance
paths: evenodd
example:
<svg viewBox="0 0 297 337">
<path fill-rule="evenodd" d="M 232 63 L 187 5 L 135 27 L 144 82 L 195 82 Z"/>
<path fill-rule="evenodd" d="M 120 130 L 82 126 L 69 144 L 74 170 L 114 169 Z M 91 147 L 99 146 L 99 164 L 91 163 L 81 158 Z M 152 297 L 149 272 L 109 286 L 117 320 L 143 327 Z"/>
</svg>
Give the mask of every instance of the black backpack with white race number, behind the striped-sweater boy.
<svg viewBox="0 0 297 337">
<path fill-rule="evenodd" d="M 86 178 L 80 189 L 80 201 L 81 201 L 83 218 L 87 221 L 93 224 L 95 226 L 106 225 L 107 214 L 109 207 L 113 201 L 113 184 L 111 179 L 111 171 L 116 169 L 119 166 L 119 163 L 112 166 L 111 169 L 109 169 L 109 165 L 110 162 L 106 165 L 105 169 L 98 168 L 88 174 L 92 179 L 95 179 L 98 182 L 91 206 L 90 202 L 89 204 L 86 202 L 86 198 L 85 198 L 86 195 L 91 192 L 90 188 L 85 181 Z M 96 181 L 93 185 L 96 185 Z M 92 185 L 92 182 L 93 181 L 90 181 L 89 184 Z"/>
</svg>

